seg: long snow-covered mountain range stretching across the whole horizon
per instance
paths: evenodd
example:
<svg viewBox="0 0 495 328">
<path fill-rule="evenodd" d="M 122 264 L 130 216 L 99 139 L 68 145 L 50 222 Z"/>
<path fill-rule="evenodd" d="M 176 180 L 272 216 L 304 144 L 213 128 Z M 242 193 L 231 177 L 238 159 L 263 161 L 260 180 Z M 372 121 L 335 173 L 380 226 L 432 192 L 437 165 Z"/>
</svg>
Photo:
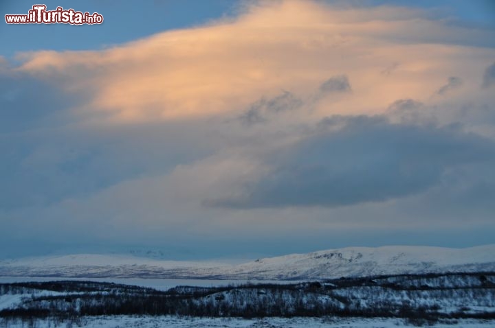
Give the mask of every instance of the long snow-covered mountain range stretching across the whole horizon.
<svg viewBox="0 0 495 328">
<path fill-rule="evenodd" d="M 64 255 L 0 261 L 0 276 L 162 279 L 332 279 L 378 274 L 494 272 L 495 244 L 472 248 L 340 248 L 239 265 L 119 255 Z"/>
</svg>

